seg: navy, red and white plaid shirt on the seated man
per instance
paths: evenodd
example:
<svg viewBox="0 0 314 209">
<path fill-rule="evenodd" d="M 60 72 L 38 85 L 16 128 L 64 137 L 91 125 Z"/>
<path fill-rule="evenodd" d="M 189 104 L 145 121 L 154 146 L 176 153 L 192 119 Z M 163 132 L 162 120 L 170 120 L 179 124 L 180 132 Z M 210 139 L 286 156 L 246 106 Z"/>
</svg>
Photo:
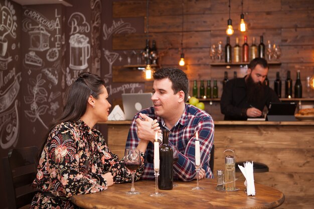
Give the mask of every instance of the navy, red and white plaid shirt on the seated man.
<svg viewBox="0 0 314 209">
<path fill-rule="evenodd" d="M 153 107 L 140 111 L 152 119 L 157 119 L 162 128 L 163 119 L 154 114 Z M 137 137 L 136 118 L 139 113 L 136 113 L 131 123 L 127 136 L 125 148 L 134 149 L 137 147 L 139 138 Z M 206 172 L 206 178 L 213 178 L 213 172 L 209 167 L 210 151 L 214 142 L 214 121 L 212 117 L 205 111 L 198 109 L 192 105 L 186 104 L 185 111 L 176 125 L 169 132 L 169 144 L 177 145 L 179 160 L 174 164 L 174 179 L 190 181 L 196 175 L 195 170 L 195 133 L 198 131 L 201 164 Z M 153 143 L 149 142 L 146 149 L 146 160 L 142 179 L 154 179 L 153 170 Z"/>
</svg>

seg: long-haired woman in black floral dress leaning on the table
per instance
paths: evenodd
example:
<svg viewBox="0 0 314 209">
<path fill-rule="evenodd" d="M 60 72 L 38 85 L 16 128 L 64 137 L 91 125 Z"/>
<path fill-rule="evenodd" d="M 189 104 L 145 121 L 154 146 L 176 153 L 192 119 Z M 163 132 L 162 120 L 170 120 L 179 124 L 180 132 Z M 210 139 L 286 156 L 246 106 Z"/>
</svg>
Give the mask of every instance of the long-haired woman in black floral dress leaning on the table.
<svg viewBox="0 0 314 209">
<path fill-rule="evenodd" d="M 113 183 L 131 182 L 131 173 L 123 160 L 112 154 L 102 134 L 92 128 L 107 121 L 111 105 L 103 80 L 81 73 L 65 94 L 65 106 L 59 120 L 50 129 L 38 165 L 33 186 L 38 188 L 30 208 L 78 208 L 72 195 L 102 191 Z M 137 149 L 143 172 L 143 158 L 149 141 L 140 140 Z"/>
</svg>

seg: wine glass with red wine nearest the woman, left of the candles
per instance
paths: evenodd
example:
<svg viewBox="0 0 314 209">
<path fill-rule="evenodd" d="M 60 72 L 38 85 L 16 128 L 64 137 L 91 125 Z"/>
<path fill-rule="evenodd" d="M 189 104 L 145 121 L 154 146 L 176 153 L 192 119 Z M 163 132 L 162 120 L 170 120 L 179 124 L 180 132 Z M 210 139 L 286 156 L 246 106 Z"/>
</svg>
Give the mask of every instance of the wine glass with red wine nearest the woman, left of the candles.
<svg viewBox="0 0 314 209">
<path fill-rule="evenodd" d="M 124 155 L 124 166 L 131 172 L 132 175 L 132 187 L 126 194 L 134 195 L 139 194 L 134 188 L 134 171 L 140 166 L 140 154 L 137 149 L 126 149 Z"/>
</svg>

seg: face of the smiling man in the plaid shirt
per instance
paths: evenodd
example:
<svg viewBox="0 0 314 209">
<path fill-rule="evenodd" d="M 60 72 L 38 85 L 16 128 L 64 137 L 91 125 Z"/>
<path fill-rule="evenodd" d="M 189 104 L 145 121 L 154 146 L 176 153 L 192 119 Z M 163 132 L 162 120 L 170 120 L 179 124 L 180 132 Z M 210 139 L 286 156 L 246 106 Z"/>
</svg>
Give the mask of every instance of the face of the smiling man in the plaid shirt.
<svg viewBox="0 0 314 209">
<path fill-rule="evenodd" d="M 154 80 L 152 90 L 153 95 L 151 100 L 153 102 L 155 115 L 169 118 L 176 110 L 179 110 L 179 92 L 177 94 L 174 93 L 171 80 L 168 78 Z"/>
</svg>

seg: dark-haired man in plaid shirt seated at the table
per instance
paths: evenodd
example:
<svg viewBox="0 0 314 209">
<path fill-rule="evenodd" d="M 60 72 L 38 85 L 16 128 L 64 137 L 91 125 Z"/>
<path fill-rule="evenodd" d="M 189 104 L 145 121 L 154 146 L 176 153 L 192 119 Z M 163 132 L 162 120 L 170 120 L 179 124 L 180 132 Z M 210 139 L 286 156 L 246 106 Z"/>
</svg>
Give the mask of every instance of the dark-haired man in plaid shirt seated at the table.
<svg viewBox="0 0 314 209">
<path fill-rule="evenodd" d="M 154 179 L 153 141 L 161 127 L 168 129 L 169 144 L 176 145 L 179 160 L 174 164 L 174 179 L 195 179 L 195 134 L 198 132 L 202 169 L 199 178 L 213 178 L 209 167 L 214 138 L 214 121 L 205 111 L 186 104 L 189 92 L 187 75 L 176 68 L 163 68 L 153 74 L 153 106 L 136 113 L 127 136 L 127 149 L 135 149 L 140 139 L 149 140 L 142 179 Z"/>
</svg>

